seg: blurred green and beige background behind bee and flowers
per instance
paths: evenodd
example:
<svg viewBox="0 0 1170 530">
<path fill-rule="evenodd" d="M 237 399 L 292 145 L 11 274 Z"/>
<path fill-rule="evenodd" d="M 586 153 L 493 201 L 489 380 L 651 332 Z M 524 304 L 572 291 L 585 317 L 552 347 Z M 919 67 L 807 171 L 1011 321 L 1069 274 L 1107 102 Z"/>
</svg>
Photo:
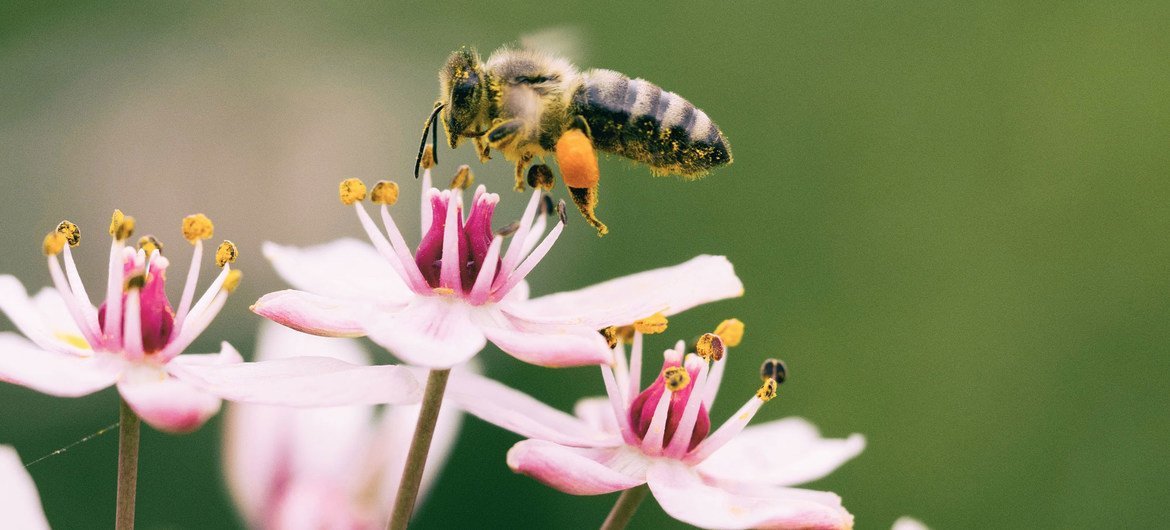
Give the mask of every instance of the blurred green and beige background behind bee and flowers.
<svg viewBox="0 0 1170 530">
<path fill-rule="evenodd" d="M 1168 25 L 1164 2 L 6 2 L 0 271 L 48 284 L 41 236 L 68 216 L 95 234 L 83 276 L 103 281 L 96 234 L 115 207 L 179 249 L 183 271 L 179 218 L 205 212 L 240 245 L 247 277 L 193 351 L 226 337 L 250 353 L 247 307 L 282 288 L 261 241 L 359 236 L 336 199 L 346 177 L 395 178 L 413 208 L 413 150 L 446 55 L 571 26 L 579 66 L 682 94 L 736 161 L 683 183 L 603 160 L 611 235 L 571 215 L 535 292 L 730 256 L 746 296 L 673 318 L 669 333 L 746 322 L 715 421 L 777 356 L 791 383 L 757 421 L 801 415 L 868 438 L 811 484 L 841 494 L 858 528 L 903 514 L 948 529 L 1158 526 Z M 473 164 L 504 194 L 498 218 L 518 214 L 508 163 L 441 154 L 440 173 Z M 563 409 L 603 391 L 596 370 L 482 358 Z M 2 385 L 0 404 L 0 443 L 26 461 L 117 417 L 112 391 L 66 400 Z M 219 420 L 187 436 L 145 431 L 140 528 L 240 524 L 220 434 Z M 112 522 L 116 438 L 29 469 L 56 528 Z M 615 496 L 511 474 L 503 455 L 517 440 L 468 420 L 418 528 L 597 526 Z M 653 502 L 633 525 L 681 526 Z"/>
</svg>

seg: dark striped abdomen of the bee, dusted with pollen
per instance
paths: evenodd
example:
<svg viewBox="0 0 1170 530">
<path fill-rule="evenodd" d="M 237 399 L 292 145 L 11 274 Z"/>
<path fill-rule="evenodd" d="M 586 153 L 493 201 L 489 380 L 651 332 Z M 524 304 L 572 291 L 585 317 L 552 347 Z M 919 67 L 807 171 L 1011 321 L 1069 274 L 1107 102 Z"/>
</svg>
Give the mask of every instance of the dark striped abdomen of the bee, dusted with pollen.
<svg viewBox="0 0 1170 530">
<path fill-rule="evenodd" d="M 613 70 L 590 70 L 581 81 L 571 110 L 585 117 L 597 149 L 684 177 L 731 161 L 720 128 L 677 94 Z"/>
</svg>

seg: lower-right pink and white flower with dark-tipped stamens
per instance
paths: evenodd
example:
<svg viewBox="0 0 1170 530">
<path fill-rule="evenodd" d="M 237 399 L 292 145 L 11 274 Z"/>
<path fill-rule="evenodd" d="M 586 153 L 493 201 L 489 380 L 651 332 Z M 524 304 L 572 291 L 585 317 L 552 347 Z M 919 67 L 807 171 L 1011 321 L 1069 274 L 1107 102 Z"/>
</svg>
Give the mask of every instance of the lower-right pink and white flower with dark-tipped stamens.
<svg viewBox="0 0 1170 530">
<path fill-rule="evenodd" d="M 860 434 L 823 439 L 799 418 L 748 427 L 776 395 L 782 363 L 765 363 L 764 385 L 711 432 L 708 411 L 727 363 L 720 337 L 738 343 L 729 323 L 738 321 L 721 325 L 721 335 L 703 336 L 700 355 L 684 355 L 681 340 L 667 350 L 646 388 L 639 377 L 642 333 L 632 337 L 628 363 L 619 342 L 615 366 L 601 366 L 608 398 L 579 401 L 576 417 L 467 373 L 453 376 L 448 395 L 464 411 L 530 438 L 508 452 L 508 466 L 564 493 L 600 495 L 648 484 L 667 514 L 702 528 L 852 528 L 840 497 L 791 487 L 858 455 L 865 447 Z"/>
</svg>

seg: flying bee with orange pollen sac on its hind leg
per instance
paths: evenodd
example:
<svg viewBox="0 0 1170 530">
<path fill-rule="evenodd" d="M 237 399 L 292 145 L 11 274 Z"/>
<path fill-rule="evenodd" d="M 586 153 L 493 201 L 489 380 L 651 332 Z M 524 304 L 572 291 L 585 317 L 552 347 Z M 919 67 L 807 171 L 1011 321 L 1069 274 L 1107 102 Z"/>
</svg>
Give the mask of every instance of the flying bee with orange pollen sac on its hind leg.
<svg viewBox="0 0 1170 530">
<path fill-rule="evenodd" d="M 470 138 L 480 161 L 491 151 L 516 163 L 516 190 L 536 157 L 553 154 L 581 215 L 599 234 L 594 147 L 648 165 L 656 175 L 698 178 L 731 163 L 723 132 L 707 113 L 654 83 L 604 69 L 578 71 L 567 60 L 531 49 L 502 48 L 481 61 L 473 48 L 450 54 L 439 71 L 439 101 L 422 130 L 438 143 L 436 121 L 455 149 Z M 435 146 L 436 147 L 436 146 Z M 418 175 L 419 163 L 415 163 Z M 529 184 L 550 174 L 538 164 Z"/>
</svg>

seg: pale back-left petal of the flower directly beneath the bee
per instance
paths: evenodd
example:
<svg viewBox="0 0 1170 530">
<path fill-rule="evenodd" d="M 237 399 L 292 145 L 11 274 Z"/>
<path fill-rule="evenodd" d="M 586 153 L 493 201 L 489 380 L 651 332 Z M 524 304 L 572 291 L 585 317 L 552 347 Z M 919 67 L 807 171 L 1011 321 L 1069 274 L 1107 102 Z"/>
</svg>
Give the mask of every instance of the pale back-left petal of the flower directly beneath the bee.
<svg viewBox="0 0 1170 530">
<path fill-rule="evenodd" d="M 411 289 L 367 242 L 343 238 L 312 247 L 263 246 L 276 273 L 294 288 L 339 300 L 402 303 Z"/>
</svg>

